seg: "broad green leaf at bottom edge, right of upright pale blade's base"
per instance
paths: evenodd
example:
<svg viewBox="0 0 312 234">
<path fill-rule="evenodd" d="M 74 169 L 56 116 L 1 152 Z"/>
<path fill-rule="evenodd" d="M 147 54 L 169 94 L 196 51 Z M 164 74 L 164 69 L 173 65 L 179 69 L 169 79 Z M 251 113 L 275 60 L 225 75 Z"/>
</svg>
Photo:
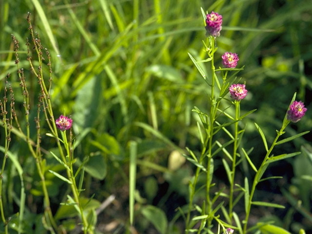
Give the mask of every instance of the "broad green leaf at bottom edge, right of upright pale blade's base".
<svg viewBox="0 0 312 234">
<path fill-rule="evenodd" d="M 142 215 L 150 221 L 160 234 L 166 234 L 168 221 L 165 213 L 159 208 L 147 205 L 141 210 Z"/>
</svg>

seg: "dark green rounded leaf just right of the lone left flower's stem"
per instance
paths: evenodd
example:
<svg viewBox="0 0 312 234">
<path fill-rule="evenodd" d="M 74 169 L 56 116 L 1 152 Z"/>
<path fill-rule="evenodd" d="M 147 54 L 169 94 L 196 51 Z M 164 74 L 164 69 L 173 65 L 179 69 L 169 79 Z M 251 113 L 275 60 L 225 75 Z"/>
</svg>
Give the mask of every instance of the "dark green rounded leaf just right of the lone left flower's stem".
<svg viewBox="0 0 312 234">
<path fill-rule="evenodd" d="M 92 177 L 104 179 L 107 174 L 107 163 L 104 156 L 101 153 L 90 156 L 84 165 L 84 169 Z"/>
</svg>

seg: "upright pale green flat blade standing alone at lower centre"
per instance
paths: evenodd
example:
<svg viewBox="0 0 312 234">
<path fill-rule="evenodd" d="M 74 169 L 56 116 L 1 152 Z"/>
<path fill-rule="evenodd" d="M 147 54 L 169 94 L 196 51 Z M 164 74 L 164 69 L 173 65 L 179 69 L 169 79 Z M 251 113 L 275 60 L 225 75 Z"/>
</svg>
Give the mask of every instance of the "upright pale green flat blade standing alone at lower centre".
<svg viewBox="0 0 312 234">
<path fill-rule="evenodd" d="M 135 191 L 137 177 L 137 142 L 130 142 L 130 162 L 129 162 L 129 212 L 130 225 L 133 225 L 134 207 L 135 207 Z"/>
</svg>

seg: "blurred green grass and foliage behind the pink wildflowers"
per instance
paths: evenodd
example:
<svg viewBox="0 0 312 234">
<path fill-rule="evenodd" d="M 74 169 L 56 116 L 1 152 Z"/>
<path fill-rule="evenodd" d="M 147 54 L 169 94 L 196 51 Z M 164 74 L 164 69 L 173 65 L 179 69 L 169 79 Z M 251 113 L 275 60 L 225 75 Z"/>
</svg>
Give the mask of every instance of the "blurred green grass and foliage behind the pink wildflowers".
<svg viewBox="0 0 312 234">
<path fill-rule="evenodd" d="M 51 98 L 55 114 L 65 111 L 73 117 L 80 143 L 75 155 L 79 160 L 91 156 L 84 196 L 96 194 L 94 198 L 99 203 L 116 195 L 115 202 L 98 215 L 98 232 L 105 233 L 104 224 L 109 223 L 116 226 L 114 231 L 106 230 L 108 233 L 129 230 L 129 163 L 137 164 L 136 177 L 131 176 L 130 184 L 131 199 L 136 199 L 134 224 L 138 232 L 179 233 L 177 230 L 183 227 L 176 208 L 188 200 L 187 181 L 194 168 L 183 163 L 179 154 L 185 152 L 186 146 L 200 149 L 197 117 L 191 110 L 194 106 L 208 110 L 209 87 L 187 54 L 205 59 L 202 40 L 206 36 L 200 7 L 223 16 L 215 64 L 221 66 L 221 55 L 230 51 L 239 55 L 238 67 L 245 65 L 239 75 L 242 82 L 246 81 L 249 93 L 241 109 L 257 111 L 244 122 L 247 131 L 242 144 L 245 149 L 254 146 L 252 160 L 258 165 L 265 150 L 253 122 L 272 142 L 294 92 L 297 100 L 305 102 L 308 112 L 300 122 L 287 127 L 285 137 L 312 127 L 311 0 L 0 1 L 0 79 L 11 73 L 9 81 L 17 90 L 16 105 L 21 106 L 11 39 L 14 34 L 20 41 L 20 66 L 27 74 L 32 103 L 36 103 L 39 89 L 29 71 L 25 46 L 29 34 L 26 17 L 30 12 L 34 30 L 52 56 Z M 205 72 L 207 68 L 203 64 Z M 47 67 L 43 69 L 48 71 Z M 3 93 L 3 82 L 0 90 Z M 1 144 L 2 136 L 1 129 Z M 219 137 L 222 142 L 224 136 Z M 25 153 L 26 144 L 18 137 L 13 139 L 10 150 L 23 168 L 26 187 L 25 220 L 37 223 L 37 233 L 42 233 L 42 197 L 35 164 Z M 311 135 L 307 135 L 280 148 L 289 153 L 301 148 L 303 154 L 274 165 L 269 173 L 282 174 L 284 179 L 259 188 L 259 197 L 264 193 L 270 201 L 276 198 L 287 204 L 287 211 L 275 214 L 275 210 L 270 210 L 270 214 L 292 233 L 301 227 L 312 232 L 312 183 L 301 177 L 312 175 L 310 139 Z M 46 147 L 54 145 L 49 137 L 43 136 L 42 141 Z M 136 160 L 129 158 L 131 148 Z M 61 170 L 52 156 L 46 157 L 54 170 Z M 227 185 L 220 162 L 216 162 L 215 170 L 215 180 L 220 186 Z M 254 176 L 246 163 L 241 164 L 240 172 Z M 132 171 L 130 175 L 135 174 Z M 70 223 L 72 218 L 66 212 L 57 213 L 67 188 L 51 175 L 47 175 L 47 180 L 53 212 L 59 222 Z M 239 177 L 237 180 L 241 182 Z M 133 190 L 134 181 L 137 192 Z M 11 162 L 5 182 L 3 199 L 7 201 L 7 214 L 12 215 L 19 206 L 20 177 Z M 268 190 L 270 196 L 264 192 Z M 268 216 L 265 212 L 255 213 L 257 219 Z M 159 218 L 156 222 L 155 214 Z"/>
</svg>

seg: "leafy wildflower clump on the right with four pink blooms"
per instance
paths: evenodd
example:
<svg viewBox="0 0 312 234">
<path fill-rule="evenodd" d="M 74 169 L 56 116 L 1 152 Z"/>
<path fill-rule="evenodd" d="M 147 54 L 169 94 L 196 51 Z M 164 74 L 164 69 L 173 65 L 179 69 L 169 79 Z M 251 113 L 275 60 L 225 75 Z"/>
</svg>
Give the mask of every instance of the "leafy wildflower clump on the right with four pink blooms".
<svg viewBox="0 0 312 234">
<path fill-rule="evenodd" d="M 226 234 L 247 234 L 252 230 L 266 230 L 270 233 L 274 233 L 276 226 L 269 223 L 258 223 L 254 227 L 249 227 L 249 215 L 252 206 L 269 206 L 275 208 L 284 208 L 282 205 L 268 203 L 264 201 L 254 200 L 254 193 L 256 186 L 267 179 L 276 179 L 278 177 L 262 178 L 269 164 L 282 160 L 288 157 L 296 156 L 300 152 L 291 154 L 273 155 L 273 149 L 276 145 L 286 143 L 294 138 L 303 136 L 307 132 L 297 134 L 292 137 L 288 137 L 282 140 L 278 140 L 283 134 L 285 134 L 285 128 L 292 122 L 299 121 L 307 111 L 304 104 L 301 101 L 295 101 L 296 93 L 292 97 L 291 105 L 288 110 L 285 110 L 285 117 L 282 122 L 280 130 L 276 130 L 276 137 L 273 140 L 271 146 L 268 144 L 266 137 L 261 130 L 260 126 L 256 123 L 255 129 L 258 131 L 260 138 L 263 141 L 263 146 L 266 151 L 266 155 L 262 158 L 261 165 L 255 165 L 252 160 L 253 149 L 244 149 L 242 145 L 242 137 L 245 132 L 243 119 L 254 113 L 256 110 L 248 111 L 245 114 L 240 112 L 240 104 L 244 105 L 248 100 L 248 80 L 246 83 L 240 83 L 240 79 L 237 77 L 239 71 L 244 69 L 244 66 L 236 68 L 239 61 L 238 55 L 231 52 L 226 52 L 221 56 L 223 68 L 215 68 L 215 57 L 217 56 L 216 41 L 220 36 L 222 29 L 222 16 L 218 13 L 212 12 L 210 14 L 205 13 L 202 10 L 205 28 L 207 30 L 207 40 L 204 41 L 204 48 L 207 52 L 207 59 L 201 62 L 210 63 L 210 74 L 206 74 L 199 61 L 196 61 L 189 53 L 189 56 L 200 75 L 203 77 L 209 88 L 209 108 L 207 111 L 199 110 L 195 107 L 193 111 L 198 114 L 200 123 L 197 122 L 198 135 L 201 142 L 200 155 L 196 155 L 191 149 L 187 148 L 189 156 L 185 157 L 196 166 L 195 174 L 189 183 L 189 204 L 185 216 L 186 221 L 186 233 L 213 233 L 214 227 L 219 226 L 222 228 L 223 233 Z M 239 67 L 239 64 L 238 64 Z M 229 93 L 229 94 L 228 94 Z M 229 98 L 228 98 L 229 97 Z M 228 108 L 234 106 L 234 116 L 229 114 Z M 219 122 L 221 117 L 228 119 L 224 123 Z M 224 132 L 228 137 L 228 141 L 221 144 L 217 139 L 217 132 Z M 259 146 L 257 146 L 259 147 Z M 231 150 L 232 152 L 231 152 Z M 212 193 L 214 183 L 214 164 L 218 153 L 223 153 L 224 157 L 221 159 L 226 175 L 229 180 L 229 189 L 225 188 Z M 235 184 L 235 171 L 240 163 L 246 160 L 248 165 L 254 171 L 252 181 L 246 176 L 244 178 L 244 184 Z M 230 164 L 229 164 L 230 162 Z M 205 185 L 198 187 L 199 176 L 205 176 Z M 194 204 L 195 194 L 205 189 L 205 199 L 201 204 Z M 228 194 L 225 191 L 229 191 Z M 235 206 L 244 199 L 245 204 L 245 217 L 244 220 L 240 220 L 239 216 L 235 212 Z M 218 201 L 220 201 L 218 203 Z M 220 216 L 223 216 L 222 220 Z M 285 230 L 284 230 L 285 231 Z M 286 231 L 285 231 L 286 232 Z M 220 233 L 220 231 L 218 231 Z"/>
</svg>

